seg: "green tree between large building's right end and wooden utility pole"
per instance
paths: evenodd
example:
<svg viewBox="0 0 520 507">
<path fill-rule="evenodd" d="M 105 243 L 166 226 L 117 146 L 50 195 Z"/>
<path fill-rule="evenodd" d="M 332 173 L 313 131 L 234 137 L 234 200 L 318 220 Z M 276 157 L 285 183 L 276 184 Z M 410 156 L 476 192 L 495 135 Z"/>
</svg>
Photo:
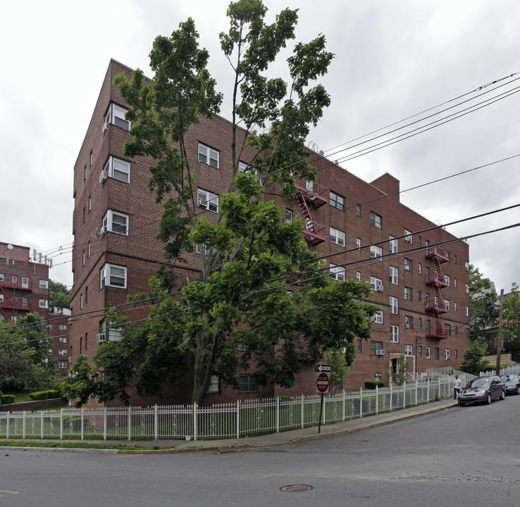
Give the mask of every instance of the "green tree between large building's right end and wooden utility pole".
<svg viewBox="0 0 520 507">
<path fill-rule="evenodd" d="M 497 293 L 489 278 L 485 278 L 473 264 L 469 265 L 470 339 L 494 327 L 498 318 Z"/>
</svg>

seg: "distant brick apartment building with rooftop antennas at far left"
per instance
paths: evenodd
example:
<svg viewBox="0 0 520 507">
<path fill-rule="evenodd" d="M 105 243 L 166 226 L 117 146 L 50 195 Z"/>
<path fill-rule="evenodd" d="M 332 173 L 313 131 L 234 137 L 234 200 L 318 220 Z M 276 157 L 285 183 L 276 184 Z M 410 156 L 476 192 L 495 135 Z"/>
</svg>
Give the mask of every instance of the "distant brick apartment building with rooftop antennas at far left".
<svg viewBox="0 0 520 507">
<path fill-rule="evenodd" d="M 27 313 L 38 313 L 47 323 L 52 343 L 49 345 L 49 359 L 56 360 L 61 375 L 66 375 L 69 367 L 68 309 L 58 313 L 49 308 L 49 265 L 28 246 L 0 242 L 0 318 L 13 325 Z"/>
</svg>

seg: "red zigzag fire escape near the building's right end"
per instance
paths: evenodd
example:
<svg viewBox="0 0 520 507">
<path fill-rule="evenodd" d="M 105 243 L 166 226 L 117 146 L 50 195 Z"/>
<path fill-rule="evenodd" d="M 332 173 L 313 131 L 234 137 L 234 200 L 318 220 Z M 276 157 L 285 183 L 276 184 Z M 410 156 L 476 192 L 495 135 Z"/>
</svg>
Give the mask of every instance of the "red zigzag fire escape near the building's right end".
<svg viewBox="0 0 520 507">
<path fill-rule="evenodd" d="M 433 313 L 435 318 L 435 329 L 426 330 L 427 338 L 447 338 L 447 331 L 444 325 L 442 325 L 442 313 L 447 313 L 447 308 L 442 297 L 442 288 L 447 287 L 446 277 L 442 273 L 442 263 L 450 261 L 450 252 L 443 249 L 441 246 L 435 246 L 428 249 L 426 252 L 426 258 L 433 261 L 434 271 L 429 275 L 426 275 L 426 285 L 433 287 L 433 293 L 435 294 L 433 300 L 426 301 L 425 310 Z"/>
</svg>

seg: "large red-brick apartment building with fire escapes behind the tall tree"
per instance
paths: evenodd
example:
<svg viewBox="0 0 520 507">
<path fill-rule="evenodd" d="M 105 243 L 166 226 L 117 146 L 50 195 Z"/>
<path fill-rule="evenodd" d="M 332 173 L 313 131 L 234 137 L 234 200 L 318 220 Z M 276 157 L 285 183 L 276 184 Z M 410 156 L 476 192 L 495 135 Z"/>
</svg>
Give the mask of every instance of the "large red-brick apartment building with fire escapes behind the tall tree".
<svg viewBox="0 0 520 507">
<path fill-rule="evenodd" d="M 128 294 L 147 290 L 149 277 L 163 259 L 156 241 L 163 208 L 147 184 L 146 158 L 123 156 L 130 124 L 125 104 L 113 84 L 132 70 L 111 61 L 92 120 L 74 167 L 73 275 L 69 353 L 94 356 L 99 343 L 117 340 L 106 323 L 105 309 L 123 305 Z M 230 123 L 216 117 L 190 127 L 187 150 L 198 186 L 200 206 L 209 220 L 231 178 Z M 468 344 L 467 294 L 469 249 L 465 242 L 400 204 L 399 182 L 385 174 L 367 183 L 326 158 L 314 154 L 318 182 L 299 182 L 295 199 L 276 196 L 285 220 L 307 220 L 310 249 L 327 259 L 330 276 L 370 282 L 371 302 L 381 313 L 373 322 L 371 342 L 357 344 L 357 359 L 345 389 L 366 380 L 388 383 L 405 354 L 409 371 L 457 367 Z M 181 280 L 198 277 L 199 256 L 187 256 Z M 121 307 L 124 308 L 124 307 Z M 146 310 L 132 311 L 132 320 Z M 81 316 L 81 318 L 78 318 Z M 241 393 L 212 384 L 206 402 L 278 394 L 314 394 L 314 365 L 305 365 L 291 389 L 258 387 L 244 372 Z M 242 378 L 241 378 L 242 380 Z M 163 391 L 138 403 L 189 401 L 187 392 Z M 133 402 L 133 401 L 132 401 Z"/>
</svg>

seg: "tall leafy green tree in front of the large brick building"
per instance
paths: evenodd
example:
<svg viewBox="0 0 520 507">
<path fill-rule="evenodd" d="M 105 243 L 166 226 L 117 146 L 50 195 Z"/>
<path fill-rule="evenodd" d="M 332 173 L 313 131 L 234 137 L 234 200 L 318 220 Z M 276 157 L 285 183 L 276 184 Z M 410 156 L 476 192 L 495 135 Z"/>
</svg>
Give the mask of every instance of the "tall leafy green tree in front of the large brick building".
<svg viewBox="0 0 520 507">
<path fill-rule="evenodd" d="M 271 64 L 295 37 L 297 11 L 285 9 L 266 24 L 261 0 L 230 4 L 230 30 L 221 33 L 221 47 L 233 70 L 233 182 L 221 196 L 216 223 L 199 218 L 185 134 L 199 118 L 212 118 L 222 96 L 206 68 L 209 54 L 199 49 L 192 19 L 180 23 L 171 37 L 157 37 L 150 53 L 154 80 L 147 84 L 136 70 L 116 85 L 130 106 L 132 141 L 126 156 L 149 156 L 149 187 L 164 205 L 159 239 L 166 259 L 175 265 L 198 245 L 199 280 L 185 284 L 173 299 L 175 280 L 166 268 L 151 280 L 157 297 L 149 320 L 126 326 L 112 313 L 112 325 L 125 332 L 120 344 L 99 347 L 94 385 L 100 401 L 119 394 L 137 373 L 139 392 L 157 392 L 162 382 L 177 382 L 179 372 L 194 370 L 192 401 L 204 403 L 212 375 L 239 387 L 239 367 L 254 365 L 260 384 L 289 387 L 300 370 L 299 358 L 321 358 L 323 350 L 347 347 L 352 363 L 355 337 L 368 339 L 376 306 L 368 284 L 333 282 L 311 276 L 323 264 L 314 260 L 303 239 L 304 223 L 284 223 L 280 209 L 264 199 L 261 182 L 282 184 L 293 195 L 295 178 L 315 180 L 316 170 L 305 149 L 309 125 L 316 125 L 330 99 L 319 76 L 333 55 L 325 38 L 297 43 L 287 58 L 288 82 L 273 74 Z M 254 168 L 240 173 L 239 162 Z M 287 273 L 299 272 L 306 282 L 287 292 Z M 306 274 L 309 275 L 306 277 Z M 237 355 L 238 345 L 243 351 Z M 139 359 L 139 363 L 136 360 Z M 91 375 L 78 373 L 78 379 Z M 83 382 L 83 380 L 82 380 Z M 88 385 L 87 389 L 91 389 Z"/>
</svg>

